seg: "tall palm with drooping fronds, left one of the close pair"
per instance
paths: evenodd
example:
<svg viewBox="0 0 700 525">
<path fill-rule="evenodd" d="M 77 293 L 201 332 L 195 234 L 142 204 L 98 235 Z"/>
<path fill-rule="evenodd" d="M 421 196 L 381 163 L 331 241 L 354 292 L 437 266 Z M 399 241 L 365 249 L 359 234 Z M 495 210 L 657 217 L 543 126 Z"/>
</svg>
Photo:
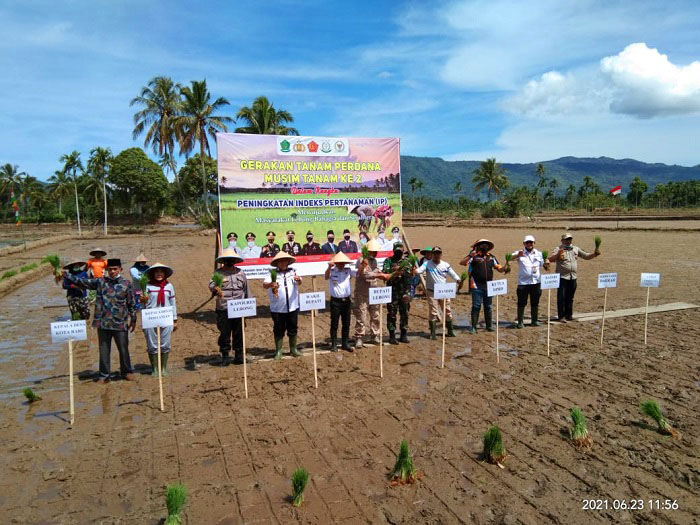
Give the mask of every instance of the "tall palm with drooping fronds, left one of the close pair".
<svg viewBox="0 0 700 525">
<path fill-rule="evenodd" d="M 169 159 L 168 168 L 173 172 L 177 183 L 177 170 L 174 163 L 175 140 L 177 129 L 175 118 L 180 114 L 180 92 L 182 86 L 173 82 L 170 77 L 153 77 L 148 84 L 141 88 L 138 97 L 134 97 L 130 106 L 142 106 L 134 114 L 134 140 L 146 133 L 143 146 L 151 146 L 153 152 Z"/>
</svg>

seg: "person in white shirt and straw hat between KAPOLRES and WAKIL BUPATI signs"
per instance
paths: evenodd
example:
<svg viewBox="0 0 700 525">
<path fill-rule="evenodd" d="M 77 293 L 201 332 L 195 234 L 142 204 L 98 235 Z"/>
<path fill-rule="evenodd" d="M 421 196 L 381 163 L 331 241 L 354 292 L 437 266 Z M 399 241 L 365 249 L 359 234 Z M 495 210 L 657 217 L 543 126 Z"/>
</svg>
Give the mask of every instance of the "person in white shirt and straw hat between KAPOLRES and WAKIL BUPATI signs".
<svg viewBox="0 0 700 525">
<path fill-rule="evenodd" d="M 270 298 L 272 332 L 275 337 L 275 359 L 282 359 L 282 343 L 289 337 L 289 353 L 299 357 L 297 350 L 297 325 L 299 321 L 299 285 L 301 277 L 289 266 L 296 261 L 285 252 L 279 252 L 270 261 L 274 269 L 265 277 L 263 288 Z"/>
</svg>

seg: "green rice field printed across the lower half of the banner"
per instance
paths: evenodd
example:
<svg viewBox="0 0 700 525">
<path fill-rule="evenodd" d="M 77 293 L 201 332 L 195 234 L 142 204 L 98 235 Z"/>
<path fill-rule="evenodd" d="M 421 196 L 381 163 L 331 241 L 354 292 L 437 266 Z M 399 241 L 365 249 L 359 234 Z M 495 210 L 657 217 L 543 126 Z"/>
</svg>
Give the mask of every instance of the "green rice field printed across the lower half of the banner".
<svg viewBox="0 0 700 525">
<path fill-rule="evenodd" d="M 326 238 L 328 230 L 334 230 L 340 240 L 340 234 L 345 228 L 353 232 L 353 239 L 357 239 L 357 215 L 350 215 L 346 207 L 332 208 L 274 208 L 274 209 L 237 209 L 235 202 L 238 199 L 308 199 L 316 198 L 315 195 L 290 195 L 290 194 L 260 194 L 260 193 L 224 193 L 221 195 L 221 229 L 224 246 L 229 232 L 238 234 L 238 245 L 245 245 L 246 232 L 252 231 L 257 236 L 257 244 L 265 244 L 265 234 L 272 230 L 277 234 L 278 243 L 282 245 L 284 233 L 287 230 L 296 232 L 296 241 L 300 244 L 306 242 L 304 235 L 308 230 L 314 234 L 314 240 L 322 241 Z M 332 195 L 334 198 L 376 198 L 387 197 L 389 205 L 394 209 L 391 217 L 391 225 L 401 226 L 401 196 L 398 193 L 341 193 Z M 325 199 L 326 197 L 321 197 Z M 331 211 L 333 213 L 313 213 Z M 375 232 L 374 221 L 370 228 L 370 236 Z"/>
</svg>

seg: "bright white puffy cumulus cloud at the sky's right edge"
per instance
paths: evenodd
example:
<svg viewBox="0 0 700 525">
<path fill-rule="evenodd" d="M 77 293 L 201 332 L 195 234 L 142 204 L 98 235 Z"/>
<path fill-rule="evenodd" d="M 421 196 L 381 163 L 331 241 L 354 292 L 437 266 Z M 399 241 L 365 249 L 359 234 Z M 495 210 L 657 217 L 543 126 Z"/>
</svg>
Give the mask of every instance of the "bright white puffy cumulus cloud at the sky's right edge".
<svg viewBox="0 0 700 525">
<path fill-rule="evenodd" d="M 700 62 L 673 64 L 645 43 L 628 45 L 596 68 L 550 71 L 527 82 L 504 107 L 516 114 L 620 113 L 639 118 L 700 111 Z"/>
</svg>

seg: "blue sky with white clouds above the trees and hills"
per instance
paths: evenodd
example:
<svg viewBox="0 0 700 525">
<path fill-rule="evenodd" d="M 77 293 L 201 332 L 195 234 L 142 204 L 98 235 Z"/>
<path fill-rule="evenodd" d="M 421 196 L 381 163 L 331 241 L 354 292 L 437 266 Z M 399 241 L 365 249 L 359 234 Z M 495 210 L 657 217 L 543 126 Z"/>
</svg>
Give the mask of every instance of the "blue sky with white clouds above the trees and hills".
<svg viewBox="0 0 700 525">
<path fill-rule="evenodd" d="M 129 101 L 167 75 L 408 155 L 696 165 L 698 22 L 695 0 L 5 2 L 0 162 L 46 179 L 142 145 Z"/>
</svg>

